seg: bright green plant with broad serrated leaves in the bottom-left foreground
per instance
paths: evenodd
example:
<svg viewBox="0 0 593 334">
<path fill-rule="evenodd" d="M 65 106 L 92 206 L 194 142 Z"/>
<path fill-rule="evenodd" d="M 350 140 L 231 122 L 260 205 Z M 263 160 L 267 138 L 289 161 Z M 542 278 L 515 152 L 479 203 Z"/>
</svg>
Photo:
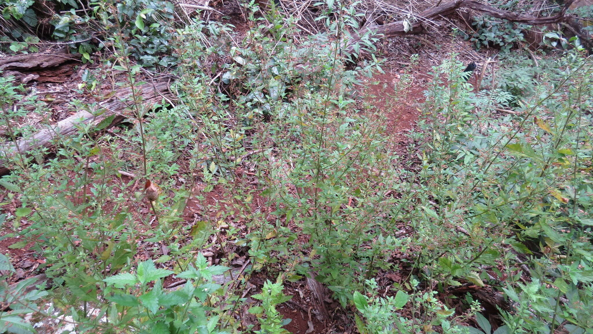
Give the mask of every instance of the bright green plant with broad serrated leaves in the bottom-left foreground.
<svg viewBox="0 0 593 334">
<path fill-rule="evenodd" d="M 224 266 L 208 266 L 199 254 L 194 265 L 178 273 L 187 282 L 175 291 L 162 288 L 161 278 L 170 270 L 157 269 L 151 260 L 138 263 L 135 273 L 119 273 L 103 281 L 103 294 L 111 304 L 102 307 L 111 326 L 131 327 L 139 333 L 222 334 L 219 315 L 211 307 L 211 296 L 221 285 L 213 283 L 214 275 L 228 270 Z M 154 281 L 154 285 L 150 285 Z"/>
</svg>

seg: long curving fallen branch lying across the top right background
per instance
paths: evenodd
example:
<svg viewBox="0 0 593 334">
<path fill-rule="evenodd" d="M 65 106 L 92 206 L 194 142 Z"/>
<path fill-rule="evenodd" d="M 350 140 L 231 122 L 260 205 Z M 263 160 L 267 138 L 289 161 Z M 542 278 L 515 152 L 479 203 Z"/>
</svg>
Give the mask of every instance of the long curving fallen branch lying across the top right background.
<svg viewBox="0 0 593 334">
<path fill-rule="evenodd" d="M 573 0 L 566 1 L 564 9 L 558 15 L 551 17 L 534 17 L 531 15 L 517 14 L 511 11 L 499 10 L 498 8 L 480 4 L 476 1 L 453 0 L 421 12 L 417 15 L 417 19 L 415 21 L 397 21 L 390 24 L 384 24 L 382 26 L 373 24 L 371 26 L 365 27 L 357 33 L 352 34 L 352 39 L 350 39 L 347 43 L 346 50 L 348 52 L 352 52 L 356 43 L 358 43 L 363 36 L 368 36 L 369 38 L 380 38 L 380 35 L 382 35 L 382 38 L 385 38 L 405 36 L 407 34 L 424 33 L 425 29 L 423 25 L 425 21 L 451 14 L 452 12 L 461 8 L 483 12 L 484 14 L 488 14 L 496 18 L 503 18 L 511 22 L 531 24 L 532 26 L 568 22 L 573 17 L 571 15 L 566 15 L 565 11 L 572 4 L 572 2 Z"/>
</svg>

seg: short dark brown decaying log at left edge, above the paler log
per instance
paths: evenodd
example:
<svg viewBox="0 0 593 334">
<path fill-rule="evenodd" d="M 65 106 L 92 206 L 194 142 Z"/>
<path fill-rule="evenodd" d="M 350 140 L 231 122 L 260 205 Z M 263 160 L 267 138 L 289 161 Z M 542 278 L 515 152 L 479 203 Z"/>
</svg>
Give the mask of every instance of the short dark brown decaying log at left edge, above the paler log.
<svg viewBox="0 0 593 334">
<path fill-rule="evenodd" d="M 68 53 L 66 49 L 54 53 L 24 53 L 0 58 L 0 70 L 39 70 L 56 67 L 68 61 L 78 61 L 79 54 Z"/>
</svg>

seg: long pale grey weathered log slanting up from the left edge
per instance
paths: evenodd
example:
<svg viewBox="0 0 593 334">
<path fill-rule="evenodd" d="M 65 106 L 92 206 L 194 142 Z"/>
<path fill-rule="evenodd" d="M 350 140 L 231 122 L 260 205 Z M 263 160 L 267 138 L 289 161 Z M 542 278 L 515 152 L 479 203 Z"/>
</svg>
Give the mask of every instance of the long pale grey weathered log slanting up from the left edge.
<svg viewBox="0 0 593 334">
<path fill-rule="evenodd" d="M 145 83 L 137 87 L 136 93 L 141 96 L 142 103 L 152 105 L 161 102 L 169 94 L 168 89 L 169 82 L 167 80 L 160 80 L 153 83 Z M 125 115 L 127 109 L 126 101 L 130 100 L 131 94 L 132 91 L 130 89 L 125 89 L 123 92 L 116 94 L 116 96 L 98 103 L 97 115 L 91 115 L 87 111 L 79 111 L 62 121 L 37 131 L 30 137 L 21 138 L 14 143 L 0 145 L 0 175 L 9 172 L 7 159 L 17 155 L 27 155 L 28 152 L 37 147 L 53 147 L 57 144 L 56 141 L 74 133 L 81 125 L 97 125 L 112 115 L 114 116 L 113 120 L 106 128 L 113 127 L 122 122 L 127 117 Z"/>
</svg>

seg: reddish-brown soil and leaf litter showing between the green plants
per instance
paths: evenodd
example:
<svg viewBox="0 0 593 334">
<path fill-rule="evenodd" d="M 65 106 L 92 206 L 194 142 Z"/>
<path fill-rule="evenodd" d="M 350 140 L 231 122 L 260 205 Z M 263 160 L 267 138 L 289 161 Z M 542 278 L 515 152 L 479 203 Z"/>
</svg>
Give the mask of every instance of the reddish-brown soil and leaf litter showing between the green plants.
<svg viewBox="0 0 593 334">
<path fill-rule="evenodd" d="M 232 2 L 231 2 L 232 3 Z M 241 33 L 248 29 L 248 25 L 242 21 L 241 16 L 238 15 L 235 8 L 231 9 L 235 17 L 232 18 L 232 23 L 238 26 L 237 33 Z M 383 51 L 385 52 L 384 57 L 386 62 L 384 64 L 384 73 L 376 74 L 372 78 L 365 79 L 367 84 L 365 85 L 364 92 L 362 92 L 371 102 L 372 105 L 377 107 L 378 115 L 387 119 L 387 133 L 385 136 L 391 138 L 391 143 L 396 147 L 396 151 L 400 153 L 410 152 L 409 146 L 413 146 L 414 143 L 406 136 L 410 131 L 415 130 L 416 123 L 422 116 L 422 103 L 424 97 L 424 91 L 426 90 L 427 84 L 431 76 L 428 74 L 431 71 L 431 67 L 439 64 L 442 59 L 448 56 L 450 52 L 458 52 L 463 55 L 463 59 L 458 59 L 463 62 L 469 62 L 483 58 L 483 55 L 478 55 L 475 51 L 470 49 L 468 42 L 457 38 L 455 40 L 448 39 L 448 42 L 437 43 L 433 45 L 426 45 L 425 42 L 418 41 L 416 39 L 404 39 L 397 38 L 392 39 L 391 42 L 383 45 Z M 419 58 L 412 64 L 410 63 L 410 57 L 417 53 Z M 83 71 L 92 66 L 95 68 L 101 65 L 82 65 L 78 66 L 78 62 L 72 61 L 63 64 L 59 68 L 53 70 L 46 70 L 42 77 L 37 80 L 34 84 L 38 96 L 42 97 L 40 100 L 47 104 L 47 108 L 51 111 L 50 114 L 46 115 L 47 119 L 25 119 L 24 122 L 41 122 L 51 121 L 57 122 L 67 118 L 75 113 L 72 109 L 70 102 L 74 99 L 81 100 L 83 102 L 93 102 L 94 96 L 91 94 L 80 94 L 77 93 L 76 87 L 82 83 Z M 107 70 L 107 69 L 106 69 Z M 403 78 L 405 80 L 403 80 Z M 122 78 L 123 80 L 123 78 Z M 470 81 L 471 82 L 471 81 Z M 396 85 L 398 85 L 398 94 L 396 94 Z M 31 84 L 29 84 L 31 86 Z M 114 83 L 104 83 L 101 90 L 104 94 L 110 94 L 114 91 Z M 397 96 L 396 96 L 397 95 Z M 376 112 L 375 111 L 375 112 Z M 107 131 L 105 136 L 112 137 L 111 140 L 118 140 L 117 134 L 113 131 Z M 122 143 L 125 145 L 125 143 Z M 81 162 L 82 163 L 82 162 Z M 236 171 L 239 177 L 250 177 L 248 171 Z M 132 178 L 123 175 L 121 178 L 114 178 L 111 182 L 122 182 L 127 184 Z M 237 180 L 235 180 L 237 181 Z M 248 183 L 248 182 L 247 182 Z M 183 182 L 178 182 L 181 187 Z M 196 187 L 192 190 L 193 196 L 189 198 L 186 209 L 182 215 L 185 220 L 183 223 L 192 225 L 197 219 L 197 215 L 204 215 L 202 212 L 204 207 L 209 204 L 225 203 L 230 201 L 228 198 L 228 192 L 225 191 L 220 185 L 217 185 L 213 191 L 205 192 L 206 184 L 196 184 Z M 142 185 L 136 184 L 130 185 L 127 190 L 130 193 L 134 191 L 140 191 Z M 257 188 L 256 185 L 253 186 Z M 172 190 L 173 191 L 173 190 Z M 6 201 L 8 192 L 0 194 L 0 202 Z M 203 196 L 205 198 L 202 201 L 198 201 L 195 198 Z M 18 197 L 12 198 L 12 203 L 9 203 L 3 207 L 5 213 L 14 213 L 15 210 L 21 206 L 21 203 L 17 199 Z M 131 198 L 130 198 L 131 200 Z M 253 209 L 260 210 L 262 212 L 272 208 L 262 207 L 263 200 L 260 201 L 257 197 L 253 200 Z M 144 203 L 145 212 L 148 212 L 149 206 Z M 216 215 L 215 212 L 209 213 L 209 215 Z M 236 223 L 236 222 L 235 222 Z M 22 225 L 18 228 L 20 230 L 27 227 L 26 220 L 22 221 Z M 403 226 L 401 226 L 403 227 Z M 4 225 L 4 228 L 0 231 L 0 235 L 12 233 L 14 230 L 12 226 Z M 142 242 L 141 242 L 142 243 Z M 39 254 L 34 250 L 35 241 L 23 241 L 19 238 L 4 238 L 0 241 L 0 253 L 9 254 L 12 263 L 17 270 L 16 275 L 12 276 L 12 279 L 16 282 L 24 278 L 28 278 L 34 275 L 39 275 L 41 272 L 37 269 L 40 264 L 43 264 L 45 260 L 40 257 Z M 156 257 L 166 254 L 166 247 L 163 245 L 154 245 L 149 242 L 138 245 L 139 249 L 143 248 L 145 251 L 139 251 L 139 258 L 137 260 L 156 259 Z M 216 263 L 216 253 L 220 250 L 205 250 L 205 254 L 211 256 L 212 263 Z M 234 264 L 240 268 L 243 266 L 247 259 L 246 251 L 240 248 L 235 249 L 237 257 L 235 258 Z M 209 252 L 209 253 L 208 253 Z M 403 254 L 405 256 L 405 254 Z M 392 259 L 397 261 L 397 259 Z M 243 266 L 244 267 L 244 266 Z M 390 286 L 393 282 L 403 282 L 409 275 L 410 268 L 400 266 L 400 270 L 390 273 L 381 273 L 377 282 L 379 286 Z M 382 276 L 381 276 L 382 275 Z M 266 273 L 257 273 L 252 276 L 247 283 L 247 286 L 251 286 L 253 289 L 250 294 L 257 293 L 263 282 L 266 281 Z M 273 279 L 273 278 L 270 278 Z M 173 285 L 175 283 L 173 278 L 165 280 L 164 286 Z M 313 285 L 313 286 L 312 286 Z M 317 298 L 313 295 L 316 293 L 314 290 L 317 288 L 311 282 L 302 280 L 294 283 L 285 283 L 285 294 L 294 296 L 291 301 L 283 303 L 279 306 L 280 313 L 288 319 L 292 319 L 292 322 L 287 324 L 285 328 L 291 333 L 295 334 L 321 334 L 328 332 L 343 332 L 352 330 L 352 326 L 347 329 L 344 324 L 350 322 L 346 317 L 344 311 L 340 311 L 340 306 L 337 301 L 331 300 L 331 294 L 329 291 L 323 292 L 323 300 L 321 301 L 321 308 L 326 310 L 321 312 L 314 310 L 311 305 L 318 304 L 313 301 Z M 385 290 L 387 293 L 387 290 Z M 254 317 L 252 314 L 244 313 L 246 317 Z M 251 319 L 256 322 L 256 319 Z"/>
</svg>

